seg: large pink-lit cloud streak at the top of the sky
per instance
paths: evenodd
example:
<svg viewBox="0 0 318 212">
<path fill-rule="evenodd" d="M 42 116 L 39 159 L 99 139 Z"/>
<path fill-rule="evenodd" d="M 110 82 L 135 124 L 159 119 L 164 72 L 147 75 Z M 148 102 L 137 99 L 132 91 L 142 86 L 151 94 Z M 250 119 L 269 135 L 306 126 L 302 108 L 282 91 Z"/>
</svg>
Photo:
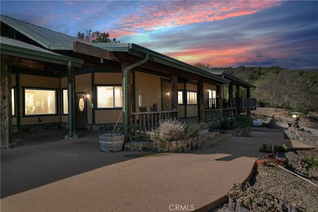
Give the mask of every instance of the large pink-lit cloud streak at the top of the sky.
<svg viewBox="0 0 318 212">
<path fill-rule="evenodd" d="M 281 4 L 279 1 L 257 0 L 182 1 L 182 3 L 165 1 L 164 4 L 154 1 L 154 3 L 158 5 L 141 4 L 137 12 L 123 15 L 118 24 L 124 28 L 132 27 L 134 31 L 153 30 L 251 14 Z M 125 35 L 129 36 L 127 33 Z"/>
</svg>

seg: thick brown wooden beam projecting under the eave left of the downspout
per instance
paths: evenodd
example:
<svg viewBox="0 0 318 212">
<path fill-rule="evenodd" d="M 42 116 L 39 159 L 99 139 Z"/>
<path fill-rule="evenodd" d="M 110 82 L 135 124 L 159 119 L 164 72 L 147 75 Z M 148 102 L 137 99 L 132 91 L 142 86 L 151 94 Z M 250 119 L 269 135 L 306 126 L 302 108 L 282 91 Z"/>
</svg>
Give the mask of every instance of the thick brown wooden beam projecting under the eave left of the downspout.
<svg viewBox="0 0 318 212">
<path fill-rule="evenodd" d="M 85 54 L 85 55 L 103 58 L 106 60 L 113 59 L 110 56 L 109 51 L 107 51 L 106 49 L 98 48 L 98 47 L 91 46 L 89 44 L 81 43 L 78 41 L 73 43 L 73 51 L 80 53 L 80 54 Z"/>
</svg>

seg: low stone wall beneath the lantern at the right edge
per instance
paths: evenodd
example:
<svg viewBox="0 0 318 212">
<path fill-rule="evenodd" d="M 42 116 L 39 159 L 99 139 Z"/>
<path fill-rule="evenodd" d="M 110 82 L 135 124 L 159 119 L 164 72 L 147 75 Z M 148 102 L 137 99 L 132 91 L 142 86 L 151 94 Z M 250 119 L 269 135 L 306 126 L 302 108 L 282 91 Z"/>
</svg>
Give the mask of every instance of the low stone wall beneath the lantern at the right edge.
<svg viewBox="0 0 318 212">
<path fill-rule="evenodd" d="M 285 139 L 300 141 L 310 146 L 316 147 L 318 145 L 318 136 L 309 131 L 304 131 L 304 128 L 288 127 L 284 130 Z"/>
</svg>

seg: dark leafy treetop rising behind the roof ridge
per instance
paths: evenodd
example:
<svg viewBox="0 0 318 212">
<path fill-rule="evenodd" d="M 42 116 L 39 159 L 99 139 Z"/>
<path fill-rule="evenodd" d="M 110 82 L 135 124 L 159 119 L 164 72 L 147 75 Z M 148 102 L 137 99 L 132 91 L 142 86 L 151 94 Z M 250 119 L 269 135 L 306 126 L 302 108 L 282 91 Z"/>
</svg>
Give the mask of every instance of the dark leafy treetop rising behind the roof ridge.
<svg viewBox="0 0 318 212">
<path fill-rule="evenodd" d="M 92 43 L 120 43 L 116 38 L 109 39 L 108 32 L 91 32 L 91 30 L 87 30 L 85 33 L 78 33 L 78 38 L 84 41 L 92 42 Z"/>
</svg>

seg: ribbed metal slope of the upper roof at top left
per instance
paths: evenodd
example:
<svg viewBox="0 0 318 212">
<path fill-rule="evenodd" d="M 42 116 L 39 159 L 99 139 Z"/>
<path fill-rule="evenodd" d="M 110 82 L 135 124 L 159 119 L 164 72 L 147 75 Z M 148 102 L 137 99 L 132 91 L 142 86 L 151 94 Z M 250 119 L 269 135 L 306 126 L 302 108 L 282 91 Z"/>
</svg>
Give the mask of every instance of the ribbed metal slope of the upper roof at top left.
<svg viewBox="0 0 318 212">
<path fill-rule="evenodd" d="M 17 20 L 11 17 L 7 17 L 5 15 L 0 16 L 1 21 L 16 31 L 24 34 L 25 36 L 31 38 L 37 43 L 41 44 L 45 48 L 49 49 L 51 43 L 72 43 L 74 41 L 80 41 L 83 43 L 87 43 L 78 38 L 56 32 L 50 29 L 46 29 L 40 26 L 36 26 L 31 23 L 27 23 L 21 20 Z"/>
</svg>

